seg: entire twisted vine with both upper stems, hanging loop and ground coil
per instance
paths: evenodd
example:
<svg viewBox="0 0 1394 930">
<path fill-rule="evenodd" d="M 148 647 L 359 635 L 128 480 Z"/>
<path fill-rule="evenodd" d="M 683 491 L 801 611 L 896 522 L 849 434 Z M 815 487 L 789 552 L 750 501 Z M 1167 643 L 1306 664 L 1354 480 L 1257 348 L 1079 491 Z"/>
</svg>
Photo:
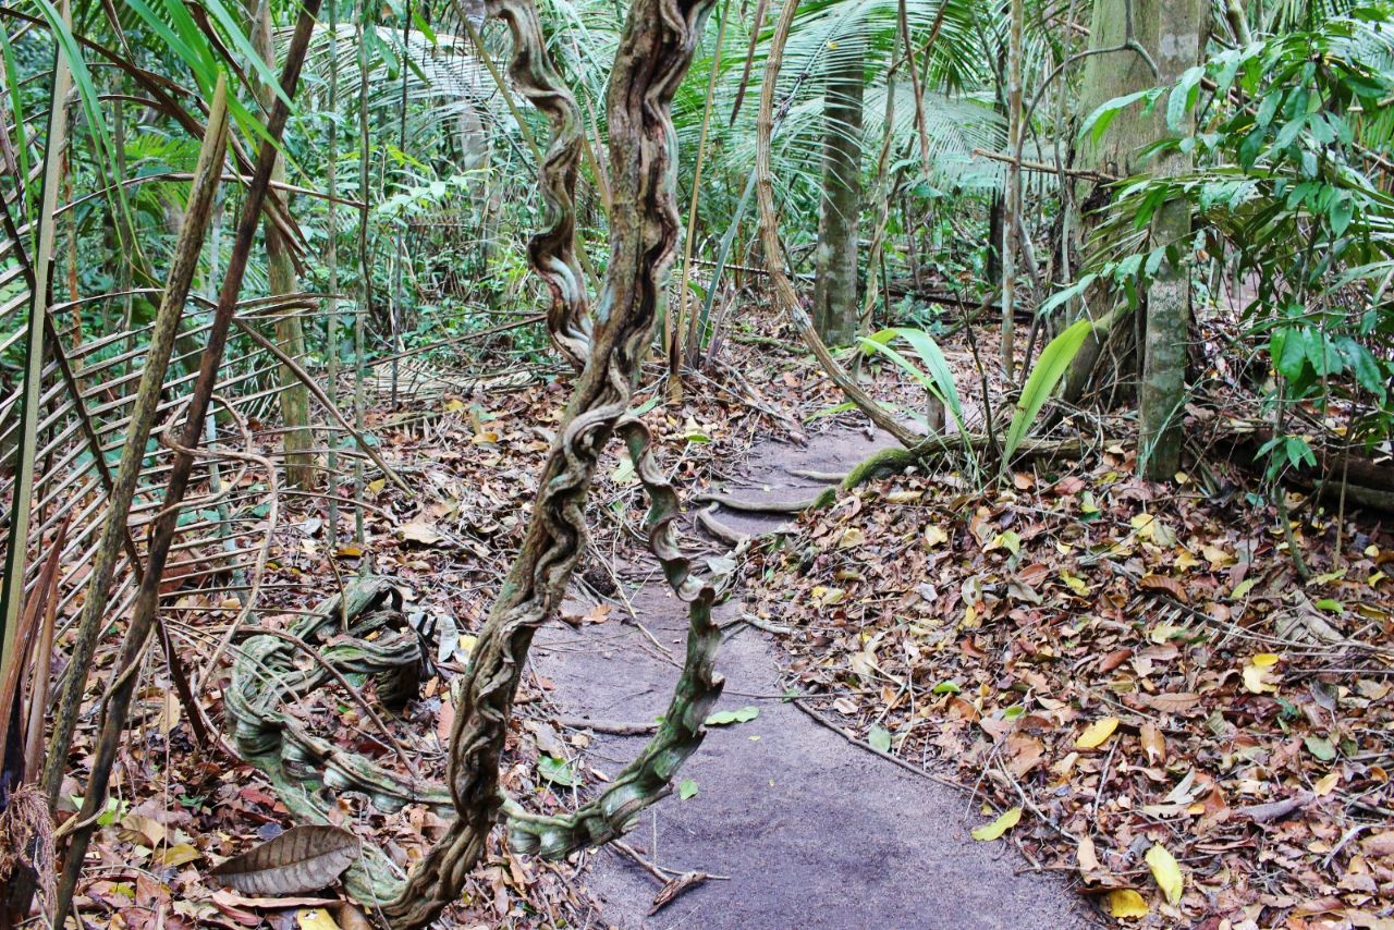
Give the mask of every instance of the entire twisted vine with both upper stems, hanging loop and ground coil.
<svg viewBox="0 0 1394 930">
<path fill-rule="evenodd" d="M 640 810 L 668 793 L 677 765 L 701 743 L 703 721 L 721 694 L 722 680 L 712 669 L 719 644 L 719 630 L 711 622 L 717 579 L 693 573 L 682 555 L 672 528 L 679 513 L 677 495 L 650 453 L 648 431 L 626 417 L 645 344 L 654 322 L 664 314 L 679 236 L 672 98 L 691 63 L 711 7 L 712 0 L 634 0 L 630 8 L 608 91 L 613 174 L 611 259 L 594 321 L 587 315 L 573 245 L 581 149 L 576 100 L 548 60 L 531 0 L 489 0 L 485 7 L 512 32 L 510 77 L 552 123 L 552 141 L 539 171 L 549 227 L 531 240 L 528 257 L 552 294 L 548 312 L 552 339 L 579 375 L 563 413 L 565 425 L 542 471 L 523 547 L 461 679 L 446 785 L 456 820 L 400 887 L 390 877 L 383 880 L 381 871 L 364 876 L 361 866 L 351 870 L 350 891 L 365 901 L 382 902 L 382 913 L 396 927 L 425 926 L 459 898 L 500 820 L 507 821 L 514 848 L 544 856 L 562 856 L 622 834 Z M 689 602 L 687 661 L 664 724 L 640 756 L 581 809 L 537 816 L 502 793 L 499 760 L 533 634 L 555 616 L 584 551 L 585 496 L 599 455 L 616 432 L 627 443 L 651 499 L 650 548 L 669 584 Z M 361 646 L 357 640 L 351 644 Z M 280 714 L 277 704 L 287 693 L 318 685 L 322 675 L 280 668 L 266 676 L 268 662 L 284 664 L 277 647 L 270 641 L 248 643 L 245 662 L 234 666 L 229 711 L 240 726 L 238 743 L 263 770 L 273 772 L 279 786 L 291 789 L 283 791 L 283 799 L 293 813 L 322 816 L 314 793 L 294 791 L 319 782 L 365 789 L 389 809 L 406 803 L 404 799 L 442 798 L 439 789 L 403 784 L 399 775 L 367 760 L 335 754 Z M 378 673 L 390 683 L 406 666 L 407 653 L 399 644 L 372 657 L 361 648 L 342 648 L 333 661 L 357 662 L 360 672 Z M 252 683 L 258 676 L 259 683 Z M 263 692 L 261 686 L 268 678 L 272 689 Z M 390 685 L 388 693 L 395 693 Z M 382 864 L 381 853 L 368 863 L 372 871 Z M 396 894 L 386 899 L 390 891 Z"/>
</svg>

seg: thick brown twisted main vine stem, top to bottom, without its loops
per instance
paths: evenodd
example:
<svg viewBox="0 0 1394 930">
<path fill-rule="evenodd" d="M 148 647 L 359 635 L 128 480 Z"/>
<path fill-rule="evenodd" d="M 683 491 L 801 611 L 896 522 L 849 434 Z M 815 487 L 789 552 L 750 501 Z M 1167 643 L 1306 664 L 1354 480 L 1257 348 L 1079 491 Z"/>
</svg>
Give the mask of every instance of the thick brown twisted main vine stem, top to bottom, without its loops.
<svg viewBox="0 0 1394 930">
<path fill-rule="evenodd" d="M 634 0 L 630 7 L 608 92 L 611 261 L 590 351 L 548 455 L 523 548 L 464 676 L 447 771 L 457 817 L 411 870 L 401 895 L 383 908 L 393 926 L 424 926 L 456 899 L 499 818 L 499 756 L 527 650 L 537 627 L 555 613 L 583 552 L 585 494 L 629 407 L 641 353 L 664 310 L 679 234 L 672 98 L 711 6 Z"/>
</svg>

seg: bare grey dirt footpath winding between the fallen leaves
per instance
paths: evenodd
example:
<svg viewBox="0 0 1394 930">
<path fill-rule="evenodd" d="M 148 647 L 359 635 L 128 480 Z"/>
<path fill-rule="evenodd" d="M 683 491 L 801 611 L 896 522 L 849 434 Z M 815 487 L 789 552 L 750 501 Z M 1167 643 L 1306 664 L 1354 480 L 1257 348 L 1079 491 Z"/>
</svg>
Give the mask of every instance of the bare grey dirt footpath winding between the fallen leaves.
<svg viewBox="0 0 1394 930">
<path fill-rule="evenodd" d="M 884 445 L 852 431 L 817 436 L 804 448 L 765 443 L 726 489 L 742 499 L 806 498 L 820 485 L 790 471 L 846 470 Z M 719 519 L 751 534 L 786 521 L 730 510 Z M 686 611 L 657 572 L 629 591 L 629 600 L 652 639 L 622 608 L 604 623 L 551 625 L 539 633 L 534 668 L 552 682 L 560 712 L 637 724 L 662 712 L 677 673 L 665 650 L 680 658 Z M 721 620 L 736 619 L 740 604 L 737 590 L 719 608 Z M 644 859 L 673 874 L 700 870 L 729 880 L 707 881 L 648 916 L 658 881 L 633 859 L 605 848 L 585 874 L 604 901 L 598 926 L 1094 926 L 1062 878 L 1018 874 L 1026 863 L 1005 841 L 969 837 L 983 816 L 966 793 L 878 759 L 781 701 L 779 651 L 768 633 L 730 626 L 717 666 L 726 676 L 718 710 L 757 707 L 758 717 L 711 728 L 680 774 L 697 784 L 696 796 L 682 800 L 675 792 L 645 813 L 627 839 Z M 643 742 L 643 736 L 597 733 L 585 760 L 612 774 Z"/>
</svg>

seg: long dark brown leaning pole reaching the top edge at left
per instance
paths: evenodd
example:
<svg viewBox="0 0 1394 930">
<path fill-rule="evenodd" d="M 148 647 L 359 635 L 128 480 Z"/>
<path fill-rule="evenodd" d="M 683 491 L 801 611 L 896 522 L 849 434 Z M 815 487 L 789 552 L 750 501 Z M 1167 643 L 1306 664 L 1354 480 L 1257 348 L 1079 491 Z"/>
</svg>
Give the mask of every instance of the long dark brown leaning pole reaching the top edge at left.
<svg viewBox="0 0 1394 930">
<path fill-rule="evenodd" d="M 243 216 L 237 223 L 237 234 L 233 240 L 233 252 L 227 264 L 223 287 L 219 291 L 217 310 L 213 314 L 213 323 L 208 332 L 208 346 L 204 349 L 204 357 L 199 361 L 198 381 L 190 397 L 188 416 L 184 422 L 183 435 L 180 436 L 180 445 L 188 449 L 197 449 L 204 438 L 204 420 L 208 414 L 213 388 L 217 383 L 223 349 L 227 344 L 227 333 L 231 328 L 233 314 L 237 310 L 237 296 L 241 291 L 247 261 L 251 257 L 261 206 L 266 198 L 266 185 L 270 181 L 272 169 L 276 163 L 276 145 L 280 141 L 282 131 L 286 128 L 286 119 L 290 112 L 287 100 L 296 93 L 296 85 L 300 81 L 300 67 L 304 63 L 305 50 L 309 47 L 309 36 L 318 10 L 319 0 L 305 0 L 286 53 L 286 67 L 282 73 L 284 98 L 277 96 L 272 107 L 270 119 L 266 124 L 266 139 L 256 155 L 256 167 L 252 173 L 252 183 L 247 188 Z M 118 669 L 128 668 L 139 657 L 155 622 L 155 615 L 159 609 L 160 577 L 164 573 L 170 545 L 174 542 L 174 534 L 178 530 L 178 505 L 184 499 L 192 468 L 192 456 L 185 453 L 176 455 L 164 495 L 166 510 L 155 523 L 151 533 L 148 565 L 145 576 L 141 579 L 135 607 L 131 612 L 130 627 L 121 643 L 116 665 Z M 92 760 L 91 777 L 84 792 L 82 810 L 78 813 L 81 820 L 91 818 L 93 813 L 106 806 L 106 789 L 112 777 L 112 764 L 116 761 L 120 747 L 121 732 L 125 728 L 125 714 L 131 704 L 134 687 L 134 678 L 127 678 L 110 692 L 109 704 L 102 718 L 96 754 Z M 50 760 L 50 764 L 53 764 L 53 760 Z M 57 763 L 60 778 L 61 765 L 60 760 Z M 82 873 L 82 860 L 91 838 L 92 827 L 85 825 L 74 831 L 72 839 L 68 844 L 67 857 L 63 863 L 63 881 L 59 885 L 59 915 L 67 915 L 68 906 L 72 902 L 72 892 Z M 60 919 L 63 917 L 60 916 Z"/>
</svg>

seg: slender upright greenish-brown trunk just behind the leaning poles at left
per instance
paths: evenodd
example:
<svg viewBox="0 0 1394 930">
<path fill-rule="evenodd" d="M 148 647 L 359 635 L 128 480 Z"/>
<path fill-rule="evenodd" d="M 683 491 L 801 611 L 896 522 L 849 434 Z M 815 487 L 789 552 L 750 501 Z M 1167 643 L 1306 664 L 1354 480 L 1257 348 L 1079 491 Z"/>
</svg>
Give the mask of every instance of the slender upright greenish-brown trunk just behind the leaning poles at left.
<svg viewBox="0 0 1394 930">
<path fill-rule="evenodd" d="M 262 3 L 258 15 L 256 43 L 258 52 L 272 68 L 276 67 L 276 50 L 270 39 L 270 4 Z M 259 88 L 262 106 L 268 110 L 275 99 L 270 86 Z M 277 158 L 272 170 L 272 184 L 284 184 L 286 159 Z M 289 198 L 287 198 L 289 205 Z M 284 236 L 276 224 L 266 219 L 263 224 L 266 237 L 266 279 L 270 296 L 282 297 L 300 290 L 296 277 L 296 264 L 291 261 L 290 248 Z M 291 358 L 305 357 L 305 330 L 300 319 L 300 311 L 290 310 L 276 315 L 276 344 Z M 282 443 L 286 450 L 286 484 L 291 488 L 312 488 L 315 485 L 315 459 L 311 449 L 315 445 L 314 432 L 309 429 L 309 392 L 300 383 L 296 374 L 286 365 L 277 367 L 276 376 L 280 381 L 280 420 Z"/>
</svg>

